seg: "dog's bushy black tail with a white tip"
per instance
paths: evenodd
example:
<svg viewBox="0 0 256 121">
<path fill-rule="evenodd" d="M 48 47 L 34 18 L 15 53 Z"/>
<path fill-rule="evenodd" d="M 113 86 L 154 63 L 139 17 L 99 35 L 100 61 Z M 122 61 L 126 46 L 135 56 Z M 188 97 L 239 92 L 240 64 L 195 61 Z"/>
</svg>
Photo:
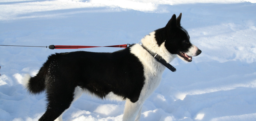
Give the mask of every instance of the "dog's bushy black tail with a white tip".
<svg viewBox="0 0 256 121">
<path fill-rule="evenodd" d="M 29 74 L 25 76 L 24 80 L 26 83 L 24 86 L 27 88 L 29 93 L 38 94 L 44 91 L 46 70 L 47 69 L 45 67 L 41 67 L 36 76 L 31 77 Z"/>
</svg>

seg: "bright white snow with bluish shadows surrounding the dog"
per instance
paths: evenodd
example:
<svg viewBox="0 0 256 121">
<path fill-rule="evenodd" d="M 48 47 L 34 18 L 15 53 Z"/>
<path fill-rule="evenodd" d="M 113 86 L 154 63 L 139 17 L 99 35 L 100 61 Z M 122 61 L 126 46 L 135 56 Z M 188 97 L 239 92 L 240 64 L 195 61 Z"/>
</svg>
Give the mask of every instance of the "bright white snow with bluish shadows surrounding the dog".
<svg viewBox="0 0 256 121">
<path fill-rule="evenodd" d="M 256 120 L 255 0 L 1 0 L 0 45 L 108 46 L 140 42 L 172 14 L 202 50 L 145 101 L 142 121 Z M 121 48 L 55 49 L 0 46 L 0 120 L 33 121 L 45 111 L 45 94 L 29 95 L 34 76 L 55 52 L 113 52 Z M 67 121 L 120 121 L 125 102 L 83 94 L 63 115 Z"/>
</svg>

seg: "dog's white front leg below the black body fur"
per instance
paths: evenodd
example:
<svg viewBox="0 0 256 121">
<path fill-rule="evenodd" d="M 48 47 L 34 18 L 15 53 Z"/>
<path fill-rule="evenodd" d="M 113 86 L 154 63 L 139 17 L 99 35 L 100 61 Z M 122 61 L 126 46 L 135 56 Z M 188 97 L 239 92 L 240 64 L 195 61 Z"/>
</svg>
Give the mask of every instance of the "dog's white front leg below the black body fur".
<svg viewBox="0 0 256 121">
<path fill-rule="evenodd" d="M 123 112 L 123 121 L 136 121 L 140 120 L 141 107 L 143 105 L 143 101 L 138 100 L 133 103 L 130 99 L 126 99 L 124 112 Z"/>
</svg>

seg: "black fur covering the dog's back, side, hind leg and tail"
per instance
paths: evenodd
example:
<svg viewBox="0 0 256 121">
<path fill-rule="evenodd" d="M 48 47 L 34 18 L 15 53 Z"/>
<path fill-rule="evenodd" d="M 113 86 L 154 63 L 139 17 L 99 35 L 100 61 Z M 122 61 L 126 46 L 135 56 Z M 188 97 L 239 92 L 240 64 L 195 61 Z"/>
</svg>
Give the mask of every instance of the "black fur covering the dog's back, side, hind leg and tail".
<svg viewBox="0 0 256 121">
<path fill-rule="evenodd" d="M 56 119 L 70 106 L 77 86 L 102 99 L 113 92 L 136 102 L 144 85 L 144 71 L 130 47 L 113 53 L 76 51 L 49 56 L 28 84 L 31 93 L 46 90 L 47 110 L 39 120 Z"/>
</svg>

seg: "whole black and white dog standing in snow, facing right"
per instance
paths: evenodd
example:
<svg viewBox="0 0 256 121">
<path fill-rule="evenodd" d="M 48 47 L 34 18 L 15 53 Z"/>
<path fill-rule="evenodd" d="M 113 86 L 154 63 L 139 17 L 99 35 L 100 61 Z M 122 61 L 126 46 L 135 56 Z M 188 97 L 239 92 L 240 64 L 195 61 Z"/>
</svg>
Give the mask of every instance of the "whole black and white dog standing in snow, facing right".
<svg viewBox="0 0 256 121">
<path fill-rule="evenodd" d="M 27 75 L 30 93 L 45 90 L 47 109 L 40 121 L 62 120 L 62 114 L 83 92 L 101 99 L 126 100 L 123 121 L 140 119 L 144 101 L 158 87 L 165 66 L 175 57 L 191 62 L 201 53 L 190 43 L 187 31 L 173 15 L 164 28 L 151 32 L 133 44 L 113 53 L 76 51 L 48 57 L 35 77 Z"/>
</svg>

